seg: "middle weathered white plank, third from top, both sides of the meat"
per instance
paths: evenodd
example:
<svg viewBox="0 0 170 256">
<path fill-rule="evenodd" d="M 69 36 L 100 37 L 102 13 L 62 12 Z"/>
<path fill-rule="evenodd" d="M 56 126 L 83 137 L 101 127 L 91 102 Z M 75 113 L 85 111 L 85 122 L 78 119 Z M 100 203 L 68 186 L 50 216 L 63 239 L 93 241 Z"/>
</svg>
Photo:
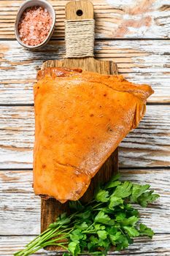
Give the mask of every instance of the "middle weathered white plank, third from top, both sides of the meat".
<svg viewBox="0 0 170 256">
<path fill-rule="evenodd" d="M 120 167 L 170 166 L 170 105 L 148 105 L 139 127 L 120 143 Z M 32 167 L 34 107 L 0 107 L 1 168 Z"/>
</svg>

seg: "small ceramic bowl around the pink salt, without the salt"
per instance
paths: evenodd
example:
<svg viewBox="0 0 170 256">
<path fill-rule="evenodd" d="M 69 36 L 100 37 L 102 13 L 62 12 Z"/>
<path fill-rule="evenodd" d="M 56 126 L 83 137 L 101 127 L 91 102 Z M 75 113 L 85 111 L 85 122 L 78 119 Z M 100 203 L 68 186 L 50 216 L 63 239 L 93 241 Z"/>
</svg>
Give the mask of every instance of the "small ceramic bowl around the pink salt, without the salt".
<svg viewBox="0 0 170 256">
<path fill-rule="evenodd" d="M 34 6 L 40 6 L 40 7 L 46 8 L 53 19 L 53 23 L 51 25 L 51 29 L 49 31 L 49 34 L 47 35 L 47 38 L 43 42 L 41 42 L 41 44 L 31 46 L 31 45 L 26 45 L 24 42 L 21 41 L 20 36 L 19 36 L 19 31 L 18 31 L 18 23 L 20 21 L 21 16 L 23 15 L 23 12 L 28 7 L 34 7 Z M 20 9 L 18 10 L 18 14 L 15 19 L 15 37 L 18 40 L 18 42 L 20 43 L 20 45 L 22 45 L 23 47 L 30 49 L 30 50 L 41 48 L 42 46 L 46 45 L 47 42 L 50 40 L 50 37 L 52 36 L 54 29 L 55 29 L 55 10 L 49 2 L 47 2 L 45 0 L 27 0 L 27 1 L 23 2 L 23 4 L 21 4 Z"/>
</svg>

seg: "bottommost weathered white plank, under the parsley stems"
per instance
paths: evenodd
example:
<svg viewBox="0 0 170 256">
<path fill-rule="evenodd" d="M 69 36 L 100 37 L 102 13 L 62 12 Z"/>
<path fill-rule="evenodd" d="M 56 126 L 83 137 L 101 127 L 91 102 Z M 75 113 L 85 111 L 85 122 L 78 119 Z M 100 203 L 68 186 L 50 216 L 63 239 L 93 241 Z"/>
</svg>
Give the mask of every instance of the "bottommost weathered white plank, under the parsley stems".
<svg viewBox="0 0 170 256">
<path fill-rule="evenodd" d="M 31 241 L 34 236 L 0 236 L 0 255 L 9 256 L 13 255 L 23 246 Z M 152 240 L 147 238 L 135 239 L 135 243 L 128 247 L 122 252 L 109 252 L 109 255 L 140 255 L 140 256 L 169 256 L 170 255 L 170 236 L 168 234 L 155 235 Z M 55 256 L 63 255 L 63 253 L 47 252 L 45 250 L 40 250 L 34 255 L 41 256 Z M 82 255 L 83 256 L 83 255 Z M 85 255 L 84 255 L 85 256 Z"/>
</svg>

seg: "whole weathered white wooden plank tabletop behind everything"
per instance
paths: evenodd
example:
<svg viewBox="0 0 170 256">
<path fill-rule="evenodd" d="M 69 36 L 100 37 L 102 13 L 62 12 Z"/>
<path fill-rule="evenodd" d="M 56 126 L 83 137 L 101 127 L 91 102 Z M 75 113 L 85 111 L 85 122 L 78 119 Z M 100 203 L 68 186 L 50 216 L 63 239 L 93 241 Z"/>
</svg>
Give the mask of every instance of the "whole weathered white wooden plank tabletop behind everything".
<svg viewBox="0 0 170 256">
<path fill-rule="evenodd" d="M 53 39 L 31 52 L 18 45 L 14 21 L 22 1 L 0 1 L 0 255 L 12 255 L 40 231 L 40 199 L 32 184 L 36 69 L 47 59 L 64 56 L 64 6 L 56 10 Z M 123 179 L 150 183 L 158 203 L 140 208 L 142 222 L 155 230 L 124 252 L 110 255 L 170 255 L 170 1 L 93 0 L 98 59 L 117 62 L 131 81 L 150 83 L 155 94 L 147 114 L 119 148 Z M 56 255 L 39 252 L 36 255 Z"/>
</svg>

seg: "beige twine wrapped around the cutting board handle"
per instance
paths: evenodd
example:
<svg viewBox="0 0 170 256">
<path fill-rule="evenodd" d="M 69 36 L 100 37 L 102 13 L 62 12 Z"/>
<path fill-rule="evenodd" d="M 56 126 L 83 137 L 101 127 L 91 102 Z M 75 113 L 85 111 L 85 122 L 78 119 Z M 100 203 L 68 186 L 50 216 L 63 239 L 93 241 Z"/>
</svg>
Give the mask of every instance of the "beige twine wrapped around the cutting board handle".
<svg viewBox="0 0 170 256">
<path fill-rule="evenodd" d="M 94 23 L 88 20 L 65 20 L 66 58 L 93 57 Z"/>
</svg>

